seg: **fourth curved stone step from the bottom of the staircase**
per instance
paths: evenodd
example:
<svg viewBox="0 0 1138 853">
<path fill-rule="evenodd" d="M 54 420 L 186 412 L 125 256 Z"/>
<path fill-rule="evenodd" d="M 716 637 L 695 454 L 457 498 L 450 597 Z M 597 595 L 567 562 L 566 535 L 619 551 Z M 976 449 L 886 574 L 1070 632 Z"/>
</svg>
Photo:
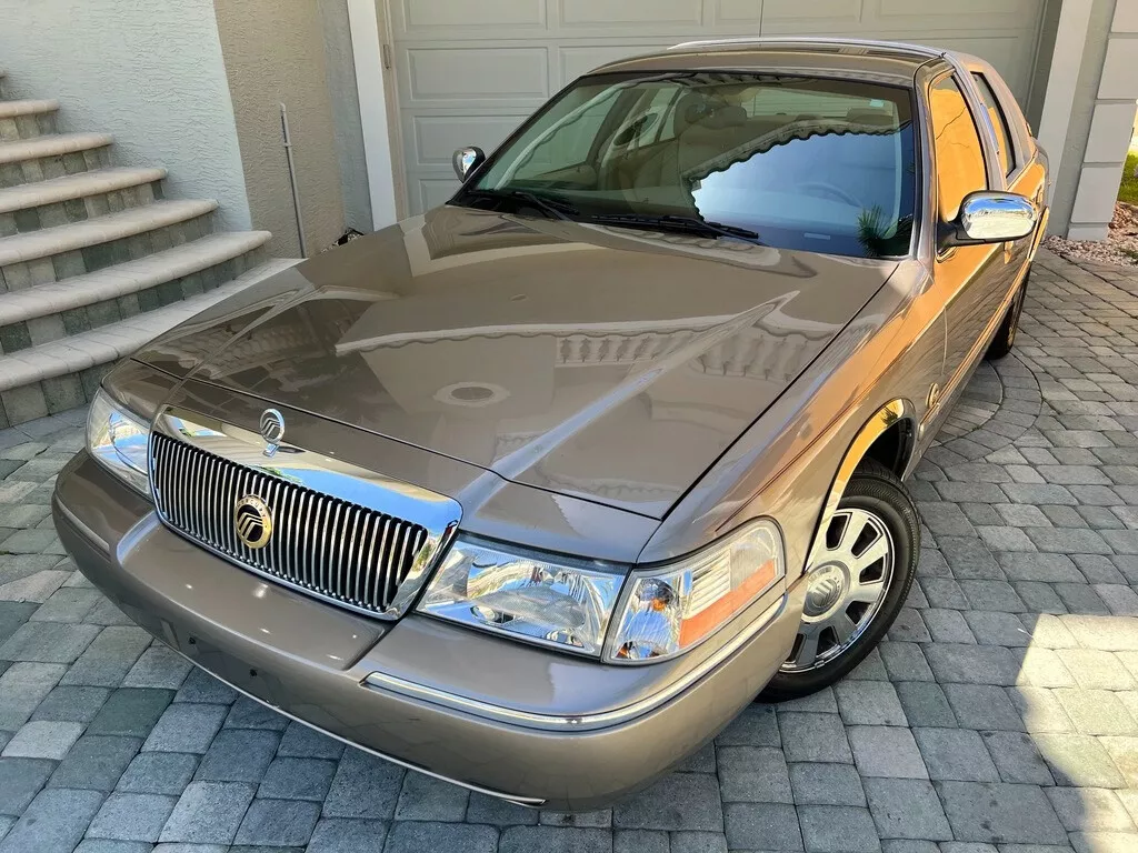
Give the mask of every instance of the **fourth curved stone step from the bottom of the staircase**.
<svg viewBox="0 0 1138 853">
<path fill-rule="evenodd" d="M 83 222 L 163 197 L 164 168 L 104 168 L 0 190 L 0 238 Z"/>
</svg>

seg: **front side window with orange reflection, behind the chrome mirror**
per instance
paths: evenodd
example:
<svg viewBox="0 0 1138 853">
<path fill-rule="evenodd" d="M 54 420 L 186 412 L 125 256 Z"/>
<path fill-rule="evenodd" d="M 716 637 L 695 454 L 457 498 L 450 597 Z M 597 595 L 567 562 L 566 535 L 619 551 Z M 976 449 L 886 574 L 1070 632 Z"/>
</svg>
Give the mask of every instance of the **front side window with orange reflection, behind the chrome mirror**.
<svg viewBox="0 0 1138 853">
<path fill-rule="evenodd" d="M 964 197 L 988 188 L 983 146 L 976 124 L 953 77 L 929 90 L 933 144 L 937 149 L 937 199 L 942 222 L 953 222 Z"/>
</svg>

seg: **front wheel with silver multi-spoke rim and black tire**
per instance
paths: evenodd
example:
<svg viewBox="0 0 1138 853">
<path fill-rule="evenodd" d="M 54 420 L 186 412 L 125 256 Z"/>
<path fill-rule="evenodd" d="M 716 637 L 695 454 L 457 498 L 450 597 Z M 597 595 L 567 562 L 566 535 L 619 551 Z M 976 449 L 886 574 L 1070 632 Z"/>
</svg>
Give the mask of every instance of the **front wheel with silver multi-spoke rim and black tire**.
<svg viewBox="0 0 1138 853">
<path fill-rule="evenodd" d="M 819 537 L 798 637 L 762 702 L 808 696 L 843 678 L 885 636 L 913 586 L 921 523 L 883 465 L 861 463 Z"/>
</svg>

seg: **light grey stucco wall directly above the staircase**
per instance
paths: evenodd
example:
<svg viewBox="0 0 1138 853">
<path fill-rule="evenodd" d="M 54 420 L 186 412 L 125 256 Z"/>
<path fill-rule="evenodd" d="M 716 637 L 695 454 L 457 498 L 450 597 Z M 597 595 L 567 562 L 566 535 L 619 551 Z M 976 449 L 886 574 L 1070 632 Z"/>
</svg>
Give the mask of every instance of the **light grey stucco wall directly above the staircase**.
<svg viewBox="0 0 1138 853">
<path fill-rule="evenodd" d="M 0 0 L 0 63 L 17 98 L 58 98 L 61 131 L 113 133 L 114 162 L 165 166 L 170 198 L 249 206 L 211 0 Z"/>
</svg>

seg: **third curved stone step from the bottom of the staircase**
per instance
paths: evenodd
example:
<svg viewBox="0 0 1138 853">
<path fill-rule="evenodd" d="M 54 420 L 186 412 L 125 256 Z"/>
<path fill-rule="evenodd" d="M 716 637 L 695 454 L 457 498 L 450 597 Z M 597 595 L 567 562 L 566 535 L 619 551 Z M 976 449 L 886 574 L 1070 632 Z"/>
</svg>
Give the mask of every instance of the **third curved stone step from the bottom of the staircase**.
<svg viewBox="0 0 1138 853">
<path fill-rule="evenodd" d="M 0 238 L 0 293 L 92 273 L 205 237 L 216 208 L 213 200 L 156 201 Z"/>
</svg>

